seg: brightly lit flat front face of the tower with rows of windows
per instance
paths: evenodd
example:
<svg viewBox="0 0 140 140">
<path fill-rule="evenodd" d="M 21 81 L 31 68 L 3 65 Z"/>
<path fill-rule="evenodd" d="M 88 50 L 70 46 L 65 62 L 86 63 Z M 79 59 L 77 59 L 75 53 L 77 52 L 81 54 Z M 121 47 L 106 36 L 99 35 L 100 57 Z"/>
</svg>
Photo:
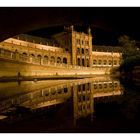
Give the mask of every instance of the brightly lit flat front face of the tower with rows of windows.
<svg viewBox="0 0 140 140">
<path fill-rule="evenodd" d="M 73 65 L 92 66 L 92 35 L 90 28 L 88 34 L 72 31 L 72 63 Z"/>
</svg>

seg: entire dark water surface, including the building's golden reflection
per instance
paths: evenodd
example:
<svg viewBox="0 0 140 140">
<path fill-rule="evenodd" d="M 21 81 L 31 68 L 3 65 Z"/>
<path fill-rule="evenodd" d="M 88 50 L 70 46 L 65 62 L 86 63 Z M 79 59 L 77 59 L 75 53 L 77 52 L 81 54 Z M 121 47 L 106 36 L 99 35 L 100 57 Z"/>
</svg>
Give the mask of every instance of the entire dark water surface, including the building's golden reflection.
<svg viewBox="0 0 140 140">
<path fill-rule="evenodd" d="M 0 83 L 0 132 L 140 132 L 139 86 L 110 77 Z"/>
</svg>

